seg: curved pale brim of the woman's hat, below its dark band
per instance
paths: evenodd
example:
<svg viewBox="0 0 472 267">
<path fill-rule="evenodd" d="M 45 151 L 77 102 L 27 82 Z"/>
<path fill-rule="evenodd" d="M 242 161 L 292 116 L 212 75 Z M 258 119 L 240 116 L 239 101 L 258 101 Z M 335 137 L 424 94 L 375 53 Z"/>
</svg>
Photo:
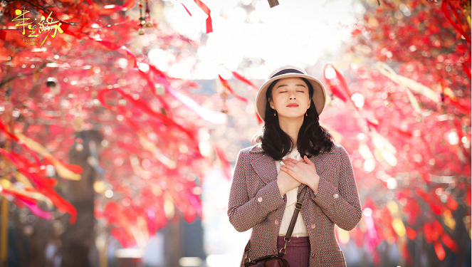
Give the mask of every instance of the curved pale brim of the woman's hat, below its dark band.
<svg viewBox="0 0 472 267">
<path fill-rule="evenodd" d="M 318 115 L 321 114 L 322 110 L 325 108 L 326 105 L 326 90 L 325 86 L 322 85 L 320 80 L 317 78 L 314 78 L 310 75 L 305 75 L 305 74 L 300 74 L 300 73 L 286 73 L 282 75 L 277 75 L 276 77 L 273 77 L 269 80 L 266 80 L 263 85 L 259 88 L 257 95 L 256 95 L 256 112 L 261 117 L 261 120 L 265 120 L 265 115 L 266 115 L 266 91 L 271 85 L 271 83 L 274 80 L 280 80 L 282 78 L 305 78 L 307 79 L 311 85 L 313 86 L 313 103 L 315 103 L 316 107 L 316 112 L 318 112 Z"/>
</svg>

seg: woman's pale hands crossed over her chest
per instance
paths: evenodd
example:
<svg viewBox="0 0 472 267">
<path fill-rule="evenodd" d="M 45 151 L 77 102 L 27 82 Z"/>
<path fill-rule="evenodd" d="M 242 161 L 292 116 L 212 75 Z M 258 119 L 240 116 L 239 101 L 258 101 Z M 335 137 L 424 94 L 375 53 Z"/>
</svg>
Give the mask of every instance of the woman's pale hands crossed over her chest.
<svg viewBox="0 0 472 267">
<path fill-rule="evenodd" d="M 320 177 L 316 173 L 315 164 L 307 156 L 302 160 L 286 158 L 282 162 L 285 165 L 280 164 L 280 172 L 277 177 L 278 188 L 282 196 L 300 184 L 306 184 L 313 192 L 318 192 Z M 289 175 L 284 175 L 281 172 Z"/>
</svg>

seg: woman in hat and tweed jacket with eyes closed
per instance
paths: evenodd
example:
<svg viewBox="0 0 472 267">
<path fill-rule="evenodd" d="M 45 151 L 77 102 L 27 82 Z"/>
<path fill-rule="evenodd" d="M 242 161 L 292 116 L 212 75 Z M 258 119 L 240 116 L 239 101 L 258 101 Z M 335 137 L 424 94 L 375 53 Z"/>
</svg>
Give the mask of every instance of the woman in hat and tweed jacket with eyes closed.
<svg viewBox="0 0 472 267">
<path fill-rule="evenodd" d="M 253 229 L 248 258 L 280 251 L 308 187 L 284 258 L 292 267 L 346 265 L 335 224 L 353 229 L 362 209 L 349 155 L 320 126 L 325 103 L 322 83 L 296 66 L 274 70 L 259 88 L 256 110 L 265 124 L 258 143 L 238 153 L 228 205 L 237 231 Z"/>
</svg>

